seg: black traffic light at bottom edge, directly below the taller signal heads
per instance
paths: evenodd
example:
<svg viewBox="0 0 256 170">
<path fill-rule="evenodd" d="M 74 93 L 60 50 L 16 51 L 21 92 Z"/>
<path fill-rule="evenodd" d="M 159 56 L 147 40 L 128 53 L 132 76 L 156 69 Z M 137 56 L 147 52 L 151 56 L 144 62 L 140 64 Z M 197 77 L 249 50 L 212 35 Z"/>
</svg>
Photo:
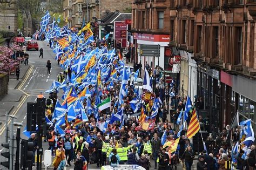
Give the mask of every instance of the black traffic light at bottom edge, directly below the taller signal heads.
<svg viewBox="0 0 256 170">
<path fill-rule="evenodd" d="M 32 161 L 35 157 L 33 154 L 34 144 L 28 140 L 21 141 L 21 168 L 32 169 Z"/>
</svg>

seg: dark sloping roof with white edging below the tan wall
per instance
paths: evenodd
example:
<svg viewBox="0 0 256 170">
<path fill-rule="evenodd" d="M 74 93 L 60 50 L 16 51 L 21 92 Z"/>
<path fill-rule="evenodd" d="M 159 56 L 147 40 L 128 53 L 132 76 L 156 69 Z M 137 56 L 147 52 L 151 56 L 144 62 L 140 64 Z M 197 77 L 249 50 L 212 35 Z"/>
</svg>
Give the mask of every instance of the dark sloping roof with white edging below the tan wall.
<svg viewBox="0 0 256 170">
<path fill-rule="evenodd" d="M 100 19 L 102 23 L 100 25 L 114 24 L 114 21 L 125 21 L 125 19 L 131 19 L 132 13 L 120 13 L 110 12 L 104 18 Z"/>
</svg>

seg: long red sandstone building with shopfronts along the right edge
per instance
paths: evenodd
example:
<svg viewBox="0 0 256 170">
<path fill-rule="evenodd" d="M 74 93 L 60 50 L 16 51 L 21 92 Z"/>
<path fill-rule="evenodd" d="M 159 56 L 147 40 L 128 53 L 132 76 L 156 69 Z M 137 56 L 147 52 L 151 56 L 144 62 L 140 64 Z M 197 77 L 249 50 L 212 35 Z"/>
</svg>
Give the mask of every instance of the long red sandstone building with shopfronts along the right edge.
<svg viewBox="0 0 256 170">
<path fill-rule="evenodd" d="M 180 92 L 201 97 L 211 131 L 256 106 L 256 1 L 183 0 L 170 4 L 170 47 L 181 56 Z"/>
</svg>

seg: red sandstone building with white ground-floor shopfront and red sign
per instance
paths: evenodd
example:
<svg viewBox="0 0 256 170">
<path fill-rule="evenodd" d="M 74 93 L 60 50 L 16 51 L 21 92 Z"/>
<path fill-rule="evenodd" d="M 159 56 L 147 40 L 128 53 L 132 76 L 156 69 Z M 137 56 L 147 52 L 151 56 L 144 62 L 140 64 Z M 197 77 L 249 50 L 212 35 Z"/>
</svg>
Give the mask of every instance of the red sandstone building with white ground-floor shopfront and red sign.
<svg viewBox="0 0 256 170">
<path fill-rule="evenodd" d="M 170 2 L 142 1 L 132 3 L 131 46 L 134 63 L 142 63 L 143 68 L 149 63 L 152 69 L 159 65 L 165 66 L 165 49 L 170 42 Z M 160 45 L 160 57 L 144 57 L 140 55 L 140 45 Z"/>
</svg>

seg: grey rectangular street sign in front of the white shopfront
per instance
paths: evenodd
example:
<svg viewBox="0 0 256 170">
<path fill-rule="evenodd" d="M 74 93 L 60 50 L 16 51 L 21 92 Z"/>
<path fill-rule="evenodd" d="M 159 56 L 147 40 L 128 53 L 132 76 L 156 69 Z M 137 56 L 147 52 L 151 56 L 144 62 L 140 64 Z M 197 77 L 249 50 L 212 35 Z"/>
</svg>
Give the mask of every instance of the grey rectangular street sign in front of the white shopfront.
<svg viewBox="0 0 256 170">
<path fill-rule="evenodd" d="M 160 45 L 140 44 L 140 53 L 145 57 L 160 57 Z"/>
</svg>

